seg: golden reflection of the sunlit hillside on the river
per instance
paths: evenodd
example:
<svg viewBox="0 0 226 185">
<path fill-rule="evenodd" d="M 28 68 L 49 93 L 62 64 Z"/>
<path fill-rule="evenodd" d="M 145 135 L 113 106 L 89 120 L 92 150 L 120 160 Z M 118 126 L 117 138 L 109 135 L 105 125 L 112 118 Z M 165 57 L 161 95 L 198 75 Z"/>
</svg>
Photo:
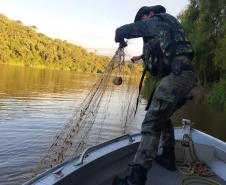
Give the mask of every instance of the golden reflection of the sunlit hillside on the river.
<svg viewBox="0 0 226 185">
<path fill-rule="evenodd" d="M 63 93 L 83 91 L 98 76 L 76 75 L 72 72 L 35 69 L 18 66 L 0 66 L 1 96 L 17 96 L 26 98 L 37 93 Z"/>
</svg>

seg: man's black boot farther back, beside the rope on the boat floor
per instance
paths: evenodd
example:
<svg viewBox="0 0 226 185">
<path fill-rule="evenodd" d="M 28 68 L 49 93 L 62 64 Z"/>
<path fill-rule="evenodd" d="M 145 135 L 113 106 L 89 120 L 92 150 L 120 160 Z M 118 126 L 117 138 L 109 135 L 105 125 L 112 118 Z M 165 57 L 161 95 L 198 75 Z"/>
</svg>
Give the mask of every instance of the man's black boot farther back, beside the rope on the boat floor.
<svg viewBox="0 0 226 185">
<path fill-rule="evenodd" d="M 176 171 L 176 160 L 174 147 L 163 148 L 162 155 L 157 155 L 155 161 L 170 171 Z"/>
</svg>

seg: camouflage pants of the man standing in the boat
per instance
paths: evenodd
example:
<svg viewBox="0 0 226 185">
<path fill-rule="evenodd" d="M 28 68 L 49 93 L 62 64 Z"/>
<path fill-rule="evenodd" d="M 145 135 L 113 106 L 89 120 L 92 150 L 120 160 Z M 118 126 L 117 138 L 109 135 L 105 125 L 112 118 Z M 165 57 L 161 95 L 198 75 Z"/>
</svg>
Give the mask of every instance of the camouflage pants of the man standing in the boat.
<svg viewBox="0 0 226 185">
<path fill-rule="evenodd" d="M 174 148 L 174 130 L 170 116 L 177 110 L 178 102 L 195 84 L 192 71 L 182 71 L 179 75 L 171 73 L 161 80 L 142 123 L 142 137 L 133 160 L 134 164 L 141 164 L 145 168 L 151 167 L 151 161 L 158 152 L 160 136 L 163 149 Z"/>
</svg>

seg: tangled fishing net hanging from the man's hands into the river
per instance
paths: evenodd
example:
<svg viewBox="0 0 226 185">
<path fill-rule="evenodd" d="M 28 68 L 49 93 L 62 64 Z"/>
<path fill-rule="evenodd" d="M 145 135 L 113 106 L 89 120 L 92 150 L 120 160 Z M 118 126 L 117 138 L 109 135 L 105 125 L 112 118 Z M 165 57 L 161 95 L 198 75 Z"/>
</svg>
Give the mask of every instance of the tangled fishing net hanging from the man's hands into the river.
<svg viewBox="0 0 226 185">
<path fill-rule="evenodd" d="M 128 69 L 128 66 L 132 75 L 124 75 L 124 70 L 125 68 Z M 109 102 L 115 88 L 113 82 L 115 78 L 121 78 L 121 76 L 123 79 L 123 84 L 121 86 L 126 88 L 126 96 L 119 102 L 121 104 L 120 121 L 121 125 L 123 125 L 122 134 L 127 132 L 127 125 L 134 117 L 138 93 L 137 88 L 131 86 L 132 84 L 138 84 L 139 82 L 139 80 L 137 80 L 139 78 L 134 77 L 133 71 L 133 64 L 127 64 L 125 62 L 124 50 L 117 50 L 108 63 L 104 73 L 94 84 L 80 107 L 75 110 L 72 119 L 55 136 L 38 167 L 34 170 L 33 175 L 40 173 L 44 169 L 55 166 L 65 159 L 79 155 L 85 147 L 87 147 L 87 138 L 95 124 L 98 111 L 100 106 L 102 106 L 101 102 L 103 101 L 103 98 L 105 98 L 103 110 L 106 111 L 107 109 L 110 109 Z M 116 87 L 120 88 L 119 86 Z M 105 115 L 105 118 L 106 117 L 107 115 Z M 104 120 L 102 124 L 104 124 Z M 101 129 L 99 130 L 99 133 L 101 133 Z M 101 141 L 97 138 L 96 143 L 99 142 Z"/>
</svg>

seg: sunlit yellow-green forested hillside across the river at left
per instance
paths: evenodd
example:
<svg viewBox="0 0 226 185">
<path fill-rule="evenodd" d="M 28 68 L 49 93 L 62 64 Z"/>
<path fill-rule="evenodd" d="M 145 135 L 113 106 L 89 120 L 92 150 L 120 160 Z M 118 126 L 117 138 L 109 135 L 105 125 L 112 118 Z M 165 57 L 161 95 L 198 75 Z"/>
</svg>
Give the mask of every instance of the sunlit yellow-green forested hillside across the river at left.
<svg viewBox="0 0 226 185">
<path fill-rule="evenodd" d="M 78 72 L 102 72 L 108 57 L 89 53 L 67 41 L 51 39 L 0 14 L 0 62 Z"/>
</svg>

